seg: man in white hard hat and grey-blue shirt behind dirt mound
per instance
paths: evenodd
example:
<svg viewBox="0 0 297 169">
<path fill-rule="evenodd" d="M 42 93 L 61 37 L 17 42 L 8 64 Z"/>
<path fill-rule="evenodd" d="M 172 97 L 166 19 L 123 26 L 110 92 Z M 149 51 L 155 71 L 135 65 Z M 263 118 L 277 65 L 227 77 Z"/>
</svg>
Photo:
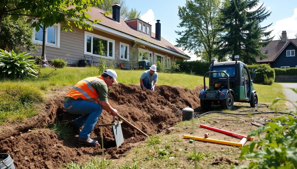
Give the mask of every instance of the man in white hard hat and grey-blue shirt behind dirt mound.
<svg viewBox="0 0 297 169">
<path fill-rule="evenodd" d="M 155 91 L 155 87 L 157 86 L 157 80 L 158 80 L 158 73 L 157 66 L 151 65 L 149 70 L 146 70 L 142 73 L 140 76 L 140 87 L 143 91 L 146 90 L 152 90 Z"/>
</svg>

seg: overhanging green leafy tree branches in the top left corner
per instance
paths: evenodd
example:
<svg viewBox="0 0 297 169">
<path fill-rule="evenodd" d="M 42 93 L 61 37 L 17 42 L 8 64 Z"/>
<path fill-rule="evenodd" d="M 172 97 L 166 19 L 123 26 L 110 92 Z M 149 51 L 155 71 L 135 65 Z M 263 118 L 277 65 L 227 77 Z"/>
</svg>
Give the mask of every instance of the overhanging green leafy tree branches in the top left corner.
<svg viewBox="0 0 297 169">
<path fill-rule="evenodd" d="M 92 30 L 91 24 L 86 23 L 90 16 L 85 12 L 89 7 L 98 5 L 102 0 L 1 0 L 0 1 L 0 32 L 1 21 L 3 17 L 11 15 L 14 20 L 18 20 L 20 16 L 29 16 L 36 18 L 32 23 L 32 27 L 38 31 L 42 28 L 52 26 L 58 22 L 64 22 L 61 26 L 62 30 L 75 32 L 71 24 L 78 28 L 86 28 Z M 31 19 L 28 19 L 30 22 Z M 99 20 L 95 19 L 94 22 Z"/>
</svg>

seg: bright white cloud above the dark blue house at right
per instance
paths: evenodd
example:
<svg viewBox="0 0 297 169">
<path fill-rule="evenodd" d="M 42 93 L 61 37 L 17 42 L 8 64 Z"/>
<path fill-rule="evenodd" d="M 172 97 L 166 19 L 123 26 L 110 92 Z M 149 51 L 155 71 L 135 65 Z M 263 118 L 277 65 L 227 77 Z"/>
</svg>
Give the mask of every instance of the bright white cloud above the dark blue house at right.
<svg viewBox="0 0 297 169">
<path fill-rule="evenodd" d="M 279 36 L 282 35 L 282 31 L 287 32 L 287 36 L 289 39 L 296 38 L 294 35 L 297 33 L 297 8 L 294 9 L 294 14 L 292 17 L 288 17 L 282 20 L 279 20 L 275 23 L 275 25 L 270 29 L 273 30 L 270 36 L 274 36 L 274 40 L 277 40 Z"/>
</svg>

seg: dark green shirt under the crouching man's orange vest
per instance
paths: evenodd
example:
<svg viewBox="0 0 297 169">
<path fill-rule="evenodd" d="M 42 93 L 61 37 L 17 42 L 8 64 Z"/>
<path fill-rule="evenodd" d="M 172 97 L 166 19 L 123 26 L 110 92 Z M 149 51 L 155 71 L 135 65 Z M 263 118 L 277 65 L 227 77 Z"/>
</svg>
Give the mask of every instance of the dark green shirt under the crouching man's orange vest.
<svg viewBox="0 0 297 169">
<path fill-rule="evenodd" d="M 99 95 L 99 100 L 103 101 L 103 102 L 107 102 L 107 95 L 108 95 L 108 88 L 105 82 L 102 81 L 97 81 L 95 83 L 92 84 L 92 87 L 97 91 L 98 95 Z M 76 99 L 73 99 L 72 97 L 65 97 L 64 102 L 68 103 L 68 102 L 72 102 Z M 82 100 L 80 97 L 78 97 L 77 100 Z"/>
</svg>

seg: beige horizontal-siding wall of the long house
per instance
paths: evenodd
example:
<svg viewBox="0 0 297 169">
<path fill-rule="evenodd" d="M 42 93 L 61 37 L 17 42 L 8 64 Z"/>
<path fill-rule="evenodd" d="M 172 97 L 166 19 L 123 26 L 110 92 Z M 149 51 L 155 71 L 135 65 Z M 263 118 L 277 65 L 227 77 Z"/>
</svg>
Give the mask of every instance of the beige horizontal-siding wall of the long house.
<svg viewBox="0 0 297 169">
<path fill-rule="evenodd" d="M 75 33 L 72 33 L 69 30 L 67 32 L 65 32 L 64 30 L 60 31 L 60 48 L 45 46 L 45 51 L 46 51 L 45 54 L 46 54 L 46 59 L 48 61 L 51 61 L 54 58 L 62 58 L 62 59 L 65 59 L 65 61 L 67 61 L 70 64 L 77 64 L 79 60 L 84 59 L 84 55 L 88 56 L 88 54 L 84 54 L 84 36 L 85 36 L 85 31 L 87 30 L 78 29 L 75 26 L 73 26 L 73 28 L 75 30 Z M 93 31 L 87 31 L 87 32 L 115 40 L 115 59 L 113 60 L 115 60 L 116 65 L 118 65 L 119 62 L 122 62 L 122 60 L 120 59 L 120 42 L 124 44 L 128 44 L 129 54 L 132 53 L 132 43 L 134 44 L 134 42 L 132 41 L 129 41 L 127 39 L 120 38 L 117 36 L 113 36 L 108 33 L 95 30 L 95 29 L 93 29 Z M 154 59 L 155 53 L 157 53 L 164 56 L 167 55 L 168 57 L 170 57 L 170 62 L 172 62 L 173 58 L 183 60 L 183 58 L 180 58 L 178 56 L 174 56 L 172 54 L 168 54 L 166 52 L 159 51 L 157 49 L 153 49 L 150 47 L 146 47 L 146 50 L 149 50 L 153 53 L 153 59 Z M 41 48 L 35 54 L 41 56 L 42 54 Z"/>
</svg>

